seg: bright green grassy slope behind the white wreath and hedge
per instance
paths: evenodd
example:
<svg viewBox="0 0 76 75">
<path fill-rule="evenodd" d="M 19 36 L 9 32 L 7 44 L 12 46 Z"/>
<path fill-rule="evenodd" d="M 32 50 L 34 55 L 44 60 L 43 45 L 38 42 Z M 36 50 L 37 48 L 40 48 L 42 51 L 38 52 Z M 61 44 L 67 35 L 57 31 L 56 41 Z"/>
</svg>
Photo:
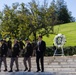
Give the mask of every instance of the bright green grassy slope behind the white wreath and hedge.
<svg viewBox="0 0 76 75">
<path fill-rule="evenodd" d="M 67 41 L 65 46 L 76 46 L 76 22 L 57 25 L 54 28 L 54 32 L 56 34 L 62 33 L 65 35 Z M 50 34 L 49 37 L 43 37 L 43 40 L 46 42 L 47 46 L 53 45 L 53 39 L 56 34 Z"/>
</svg>

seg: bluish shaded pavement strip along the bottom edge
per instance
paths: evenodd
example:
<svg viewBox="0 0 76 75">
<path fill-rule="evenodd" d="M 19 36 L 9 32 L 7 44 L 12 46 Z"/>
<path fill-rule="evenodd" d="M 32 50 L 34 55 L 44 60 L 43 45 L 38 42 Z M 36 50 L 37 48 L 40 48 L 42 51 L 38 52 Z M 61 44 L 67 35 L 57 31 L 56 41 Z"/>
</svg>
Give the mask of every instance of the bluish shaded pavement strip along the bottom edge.
<svg viewBox="0 0 76 75">
<path fill-rule="evenodd" d="M 0 75 L 76 75 L 76 72 L 1 72 Z"/>
</svg>

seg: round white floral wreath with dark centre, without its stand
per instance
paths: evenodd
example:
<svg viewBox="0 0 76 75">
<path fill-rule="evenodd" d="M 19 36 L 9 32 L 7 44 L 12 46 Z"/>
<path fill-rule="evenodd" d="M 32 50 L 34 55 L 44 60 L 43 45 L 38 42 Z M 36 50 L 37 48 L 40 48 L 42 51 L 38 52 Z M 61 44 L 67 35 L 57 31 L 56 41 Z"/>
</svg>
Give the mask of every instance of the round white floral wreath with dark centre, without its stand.
<svg viewBox="0 0 76 75">
<path fill-rule="evenodd" d="M 65 42 L 66 42 L 66 38 L 63 34 L 58 34 L 54 38 L 54 45 L 58 48 L 63 47 Z"/>
</svg>

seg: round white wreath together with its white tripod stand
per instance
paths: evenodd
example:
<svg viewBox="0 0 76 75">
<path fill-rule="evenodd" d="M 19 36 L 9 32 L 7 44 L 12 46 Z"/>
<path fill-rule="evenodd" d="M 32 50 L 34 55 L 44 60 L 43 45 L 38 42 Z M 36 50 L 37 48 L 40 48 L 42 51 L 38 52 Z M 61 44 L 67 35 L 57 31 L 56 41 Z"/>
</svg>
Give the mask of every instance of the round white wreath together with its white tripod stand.
<svg viewBox="0 0 76 75">
<path fill-rule="evenodd" d="M 56 55 L 64 56 L 63 46 L 64 46 L 65 42 L 66 42 L 66 39 L 65 39 L 65 36 L 63 34 L 58 34 L 55 36 L 54 45 L 55 45 L 56 49 L 54 51 L 53 56 L 56 56 Z M 57 53 L 59 48 L 61 49 L 61 53 Z"/>
</svg>

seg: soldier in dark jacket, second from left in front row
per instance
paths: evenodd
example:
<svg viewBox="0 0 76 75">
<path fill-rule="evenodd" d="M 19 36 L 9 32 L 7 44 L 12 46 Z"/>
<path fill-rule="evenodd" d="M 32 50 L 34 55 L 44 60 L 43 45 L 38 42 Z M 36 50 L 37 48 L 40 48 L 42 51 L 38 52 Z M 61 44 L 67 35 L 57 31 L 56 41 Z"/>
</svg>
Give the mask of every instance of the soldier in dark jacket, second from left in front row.
<svg viewBox="0 0 76 75">
<path fill-rule="evenodd" d="M 19 65 L 18 65 L 18 56 L 19 56 L 19 44 L 18 41 L 15 39 L 14 40 L 14 47 L 13 47 L 13 52 L 12 52 L 12 57 L 11 57 L 11 63 L 10 63 L 10 71 L 12 72 L 12 67 L 13 67 L 13 63 L 15 61 L 16 64 L 16 71 L 19 71 Z"/>
</svg>

